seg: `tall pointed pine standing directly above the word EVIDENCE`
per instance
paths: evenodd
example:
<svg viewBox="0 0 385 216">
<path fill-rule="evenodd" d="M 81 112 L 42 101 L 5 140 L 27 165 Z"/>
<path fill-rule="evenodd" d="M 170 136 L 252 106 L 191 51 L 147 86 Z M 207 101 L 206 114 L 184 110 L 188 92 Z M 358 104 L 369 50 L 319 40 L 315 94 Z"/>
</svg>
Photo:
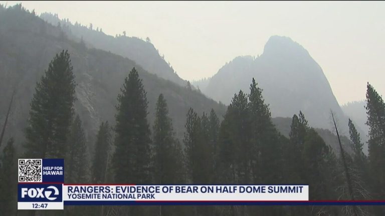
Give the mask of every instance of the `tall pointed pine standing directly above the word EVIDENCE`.
<svg viewBox="0 0 385 216">
<path fill-rule="evenodd" d="M 115 181 L 148 183 L 150 129 L 147 122 L 147 97 L 142 80 L 133 68 L 118 95 L 115 153 Z"/>
</svg>

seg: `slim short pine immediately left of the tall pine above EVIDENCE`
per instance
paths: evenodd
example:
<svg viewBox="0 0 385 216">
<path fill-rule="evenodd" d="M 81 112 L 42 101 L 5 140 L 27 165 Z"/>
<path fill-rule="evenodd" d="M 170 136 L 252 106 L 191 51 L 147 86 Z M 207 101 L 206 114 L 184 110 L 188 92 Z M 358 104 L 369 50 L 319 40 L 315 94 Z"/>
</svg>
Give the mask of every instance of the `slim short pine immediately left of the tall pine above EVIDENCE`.
<svg viewBox="0 0 385 216">
<path fill-rule="evenodd" d="M 108 121 L 102 122 L 96 138 L 95 158 L 92 166 L 92 181 L 95 183 L 105 183 L 111 139 Z"/>
</svg>

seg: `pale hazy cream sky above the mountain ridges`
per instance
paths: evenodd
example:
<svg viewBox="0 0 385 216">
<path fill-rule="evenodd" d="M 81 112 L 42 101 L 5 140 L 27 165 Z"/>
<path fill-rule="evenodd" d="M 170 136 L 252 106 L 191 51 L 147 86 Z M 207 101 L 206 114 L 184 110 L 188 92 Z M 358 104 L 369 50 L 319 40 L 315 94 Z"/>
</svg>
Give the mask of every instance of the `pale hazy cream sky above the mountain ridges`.
<svg viewBox="0 0 385 216">
<path fill-rule="evenodd" d="M 1 1 L 13 5 L 20 1 Z M 369 81 L 385 96 L 384 1 L 23 1 L 107 34 L 151 39 L 178 75 L 214 75 L 255 55 L 271 35 L 289 36 L 320 64 L 338 102 L 365 98 Z"/>
</svg>

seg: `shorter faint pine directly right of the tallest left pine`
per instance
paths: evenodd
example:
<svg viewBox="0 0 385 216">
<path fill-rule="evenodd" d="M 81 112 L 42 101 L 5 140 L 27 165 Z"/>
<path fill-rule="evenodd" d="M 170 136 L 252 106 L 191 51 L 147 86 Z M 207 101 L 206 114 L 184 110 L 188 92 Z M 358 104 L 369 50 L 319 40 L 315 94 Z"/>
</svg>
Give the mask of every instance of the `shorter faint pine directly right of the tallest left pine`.
<svg viewBox="0 0 385 216">
<path fill-rule="evenodd" d="M 88 180 L 88 155 L 86 137 L 79 115 L 72 122 L 68 138 L 67 183 L 86 183 Z"/>
</svg>

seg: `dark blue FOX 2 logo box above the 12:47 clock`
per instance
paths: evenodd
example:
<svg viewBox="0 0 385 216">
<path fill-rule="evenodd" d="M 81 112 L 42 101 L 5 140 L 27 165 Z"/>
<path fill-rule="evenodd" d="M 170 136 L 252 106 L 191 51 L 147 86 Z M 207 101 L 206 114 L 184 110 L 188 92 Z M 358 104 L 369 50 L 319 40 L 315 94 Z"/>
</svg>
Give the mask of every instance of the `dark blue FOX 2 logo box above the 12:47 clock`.
<svg viewBox="0 0 385 216">
<path fill-rule="evenodd" d="M 18 201 L 61 202 L 62 184 L 19 184 Z"/>
</svg>

